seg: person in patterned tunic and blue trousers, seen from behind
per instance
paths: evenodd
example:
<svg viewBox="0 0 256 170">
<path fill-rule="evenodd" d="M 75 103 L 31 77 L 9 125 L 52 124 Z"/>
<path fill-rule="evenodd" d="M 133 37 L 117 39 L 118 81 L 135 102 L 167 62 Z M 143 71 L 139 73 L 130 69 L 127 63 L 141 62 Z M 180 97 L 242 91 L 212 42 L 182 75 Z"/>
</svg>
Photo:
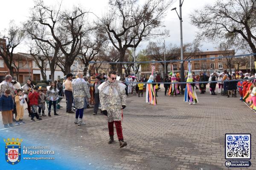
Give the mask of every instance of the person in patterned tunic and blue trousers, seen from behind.
<svg viewBox="0 0 256 170">
<path fill-rule="evenodd" d="M 79 126 L 85 125 L 83 122 L 83 115 L 84 115 L 84 98 L 87 97 L 89 102 L 91 99 L 90 90 L 83 79 L 83 74 L 78 73 L 77 78 L 73 80 L 72 82 L 72 89 L 73 89 L 73 96 L 74 96 L 74 105 L 76 107 L 76 119 L 75 124 L 78 124 Z"/>
</svg>

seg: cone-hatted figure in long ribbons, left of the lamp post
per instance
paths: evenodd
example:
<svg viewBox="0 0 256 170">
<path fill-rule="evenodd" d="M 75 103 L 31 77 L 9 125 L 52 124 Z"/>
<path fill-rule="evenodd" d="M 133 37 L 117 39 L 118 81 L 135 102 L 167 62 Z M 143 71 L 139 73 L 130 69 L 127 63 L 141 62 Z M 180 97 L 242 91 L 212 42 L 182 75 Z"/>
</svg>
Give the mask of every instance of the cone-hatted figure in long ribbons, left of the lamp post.
<svg viewBox="0 0 256 170">
<path fill-rule="evenodd" d="M 154 76 L 153 76 L 154 67 L 152 69 L 152 74 L 149 76 L 148 83 L 146 84 L 146 103 L 151 105 L 157 104 L 156 98 L 156 84 L 154 84 Z"/>
</svg>

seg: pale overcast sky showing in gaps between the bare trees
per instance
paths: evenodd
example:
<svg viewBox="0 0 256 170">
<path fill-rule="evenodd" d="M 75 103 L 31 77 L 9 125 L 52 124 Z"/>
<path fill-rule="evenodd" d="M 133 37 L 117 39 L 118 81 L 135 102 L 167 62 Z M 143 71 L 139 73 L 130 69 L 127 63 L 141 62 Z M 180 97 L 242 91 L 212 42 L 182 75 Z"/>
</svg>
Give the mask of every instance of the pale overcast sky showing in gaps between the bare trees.
<svg viewBox="0 0 256 170">
<path fill-rule="evenodd" d="M 215 0 L 184 0 L 182 6 L 183 17 L 183 43 L 192 42 L 195 38 L 197 28 L 189 23 L 189 14 L 195 9 L 203 8 L 206 3 L 213 3 Z M 58 3 L 61 0 L 44 0 L 45 3 Z M 102 16 L 106 10 L 108 10 L 108 0 L 63 0 L 63 8 L 72 8 L 74 5 L 83 6 L 89 11 L 93 11 L 97 16 Z M 15 20 L 17 24 L 23 22 L 29 16 L 29 10 L 34 6 L 33 0 L 11 0 L 1 1 L 0 16 L 1 24 L 0 31 L 4 28 L 8 28 L 9 21 Z M 171 11 L 172 8 L 177 8 L 179 13 L 179 0 L 176 0 L 164 19 L 166 29 L 170 31 L 170 37 L 166 38 L 167 44 L 180 45 L 180 22 L 175 11 Z M 154 41 L 154 40 L 152 40 Z M 145 48 L 148 42 L 142 42 L 140 49 Z M 215 46 L 210 42 L 203 42 L 201 50 L 209 51 L 215 50 Z M 26 45 L 23 43 L 15 50 L 15 52 L 28 52 Z"/>
</svg>

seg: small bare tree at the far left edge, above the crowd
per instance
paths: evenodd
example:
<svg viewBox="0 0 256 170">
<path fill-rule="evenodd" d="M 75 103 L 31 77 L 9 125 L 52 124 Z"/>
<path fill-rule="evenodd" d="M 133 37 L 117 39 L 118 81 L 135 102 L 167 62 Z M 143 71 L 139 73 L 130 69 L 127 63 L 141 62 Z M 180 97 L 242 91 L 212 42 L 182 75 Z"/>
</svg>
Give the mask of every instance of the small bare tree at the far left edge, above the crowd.
<svg viewBox="0 0 256 170">
<path fill-rule="evenodd" d="M 0 46 L 0 56 L 3 58 L 7 68 L 10 71 L 10 75 L 13 77 L 14 75 L 14 67 L 12 66 L 14 63 L 14 49 L 20 45 L 20 43 L 24 40 L 24 31 L 20 29 L 17 25 L 15 25 L 12 20 L 9 23 L 9 28 L 4 31 L 4 35 L 2 38 L 6 41 L 6 46 Z"/>
</svg>

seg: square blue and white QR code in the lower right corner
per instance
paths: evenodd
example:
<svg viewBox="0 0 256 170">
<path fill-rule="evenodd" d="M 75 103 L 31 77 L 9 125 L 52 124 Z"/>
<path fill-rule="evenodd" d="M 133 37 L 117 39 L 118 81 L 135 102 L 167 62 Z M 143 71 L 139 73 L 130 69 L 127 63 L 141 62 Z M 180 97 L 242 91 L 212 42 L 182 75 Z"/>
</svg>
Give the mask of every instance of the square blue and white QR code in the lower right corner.
<svg viewBox="0 0 256 170">
<path fill-rule="evenodd" d="M 250 134 L 226 134 L 226 159 L 251 159 Z"/>
</svg>

